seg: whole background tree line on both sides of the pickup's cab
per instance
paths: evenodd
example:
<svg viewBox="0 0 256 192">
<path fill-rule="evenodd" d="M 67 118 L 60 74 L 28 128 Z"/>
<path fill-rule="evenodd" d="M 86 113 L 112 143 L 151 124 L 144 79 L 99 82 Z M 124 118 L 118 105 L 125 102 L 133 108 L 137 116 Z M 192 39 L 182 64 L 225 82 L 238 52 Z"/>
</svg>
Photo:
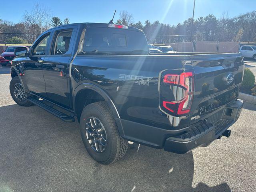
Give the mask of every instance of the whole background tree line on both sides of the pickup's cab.
<svg viewBox="0 0 256 192">
<path fill-rule="evenodd" d="M 170 20 L 171 22 L 171 20 Z M 11 21 L 0 20 L 0 43 L 32 43 L 45 30 L 51 27 L 70 23 L 52 17 L 50 9 L 34 4 L 30 11 L 25 11 L 22 22 L 14 24 Z M 144 31 L 150 43 L 175 43 L 190 41 L 220 41 L 220 42 L 256 42 L 256 11 L 229 17 L 224 13 L 220 18 L 209 14 L 192 21 L 188 18 L 176 25 L 163 24 L 159 21 L 134 22 L 134 17 L 127 11 L 121 11 L 116 24 L 133 26 Z M 193 25 L 192 25 L 193 23 Z"/>
</svg>

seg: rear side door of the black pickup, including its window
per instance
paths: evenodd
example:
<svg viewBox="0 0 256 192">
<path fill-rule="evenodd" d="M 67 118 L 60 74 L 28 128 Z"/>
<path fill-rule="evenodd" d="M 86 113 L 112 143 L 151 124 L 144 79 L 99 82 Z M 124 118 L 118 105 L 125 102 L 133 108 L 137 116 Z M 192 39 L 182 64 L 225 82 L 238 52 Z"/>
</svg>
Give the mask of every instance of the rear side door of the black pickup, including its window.
<svg viewBox="0 0 256 192">
<path fill-rule="evenodd" d="M 60 28 L 52 38 L 50 55 L 42 63 L 46 94 L 49 100 L 69 107 L 68 69 L 74 42 L 74 28 Z"/>
</svg>

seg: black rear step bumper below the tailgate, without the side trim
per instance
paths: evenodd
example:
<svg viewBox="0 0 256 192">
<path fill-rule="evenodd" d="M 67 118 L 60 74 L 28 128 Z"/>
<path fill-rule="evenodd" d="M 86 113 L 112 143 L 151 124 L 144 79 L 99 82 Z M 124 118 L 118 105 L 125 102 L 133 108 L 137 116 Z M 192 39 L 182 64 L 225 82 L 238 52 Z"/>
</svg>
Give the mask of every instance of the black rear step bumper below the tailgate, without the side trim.
<svg viewBox="0 0 256 192">
<path fill-rule="evenodd" d="M 207 120 L 200 121 L 190 126 L 185 133 L 167 138 L 164 150 L 184 154 L 199 146 L 208 146 L 236 122 L 241 114 L 242 107 L 243 101 L 235 100 L 224 108 L 222 118 L 214 124 L 210 124 Z"/>
</svg>

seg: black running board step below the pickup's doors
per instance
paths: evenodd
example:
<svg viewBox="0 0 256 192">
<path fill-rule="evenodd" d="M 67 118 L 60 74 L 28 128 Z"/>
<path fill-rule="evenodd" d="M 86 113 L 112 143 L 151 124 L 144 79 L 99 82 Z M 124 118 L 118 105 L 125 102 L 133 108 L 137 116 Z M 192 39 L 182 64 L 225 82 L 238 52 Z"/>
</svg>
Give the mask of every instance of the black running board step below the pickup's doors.
<svg viewBox="0 0 256 192">
<path fill-rule="evenodd" d="M 69 116 L 67 114 L 64 114 L 63 112 L 56 110 L 52 108 L 51 106 L 48 106 L 44 103 L 44 100 L 36 100 L 34 98 L 27 98 L 30 102 L 34 103 L 35 105 L 41 107 L 42 109 L 50 112 L 51 114 L 55 115 L 56 117 L 60 118 L 64 122 L 74 122 L 75 118 L 72 116 Z"/>
</svg>

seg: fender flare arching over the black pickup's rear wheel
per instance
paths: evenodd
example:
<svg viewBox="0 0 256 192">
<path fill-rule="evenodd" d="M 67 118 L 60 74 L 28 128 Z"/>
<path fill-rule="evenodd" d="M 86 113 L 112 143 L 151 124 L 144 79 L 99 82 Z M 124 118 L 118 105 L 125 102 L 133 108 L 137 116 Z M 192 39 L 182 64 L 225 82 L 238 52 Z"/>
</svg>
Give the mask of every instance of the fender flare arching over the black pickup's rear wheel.
<svg viewBox="0 0 256 192">
<path fill-rule="evenodd" d="M 113 114 L 114 114 L 114 117 L 115 118 L 119 118 L 120 119 L 120 115 L 118 113 L 118 110 L 113 102 L 113 100 L 110 98 L 110 96 L 106 93 L 106 91 L 104 91 L 102 88 L 100 88 L 99 86 L 96 86 L 92 83 L 82 83 L 80 85 L 78 85 L 74 92 L 73 92 L 73 98 L 76 98 L 76 95 L 78 94 L 79 91 L 81 90 L 84 90 L 84 89 L 90 89 L 90 90 L 94 90 L 96 91 L 98 94 L 100 94 L 105 100 L 106 102 L 108 103 L 108 106 L 110 106 L 110 109 L 112 110 Z M 75 109 L 75 103 L 76 103 L 76 100 L 73 99 L 73 109 L 74 109 L 74 112 L 76 112 L 76 109 Z"/>
</svg>

